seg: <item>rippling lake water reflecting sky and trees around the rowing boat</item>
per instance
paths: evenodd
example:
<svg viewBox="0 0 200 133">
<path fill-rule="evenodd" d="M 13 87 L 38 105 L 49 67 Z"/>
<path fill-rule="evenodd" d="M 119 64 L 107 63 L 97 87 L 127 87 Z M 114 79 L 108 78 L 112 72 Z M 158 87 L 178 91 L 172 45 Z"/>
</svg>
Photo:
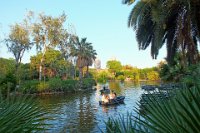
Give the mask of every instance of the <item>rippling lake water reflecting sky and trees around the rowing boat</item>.
<svg viewBox="0 0 200 133">
<path fill-rule="evenodd" d="M 51 124 L 48 132 L 100 132 L 105 131 L 104 121 L 109 116 L 118 116 L 133 112 L 137 107 L 143 90 L 139 83 L 134 82 L 109 82 L 107 83 L 111 90 L 117 95 L 124 95 L 124 104 L 116 106 L 99 106 L 101 99 L 99 89 L 102 84 L 97 85 L 97 90 L 90 93 L 53 95 L 39 97 L 39 103 L 48 111 L 51 118 L 47 123 Z M 136 115 L 136 114 L 135 114 Z M 100 128 L 100 129 L 99 129 Z"/>
</svg>

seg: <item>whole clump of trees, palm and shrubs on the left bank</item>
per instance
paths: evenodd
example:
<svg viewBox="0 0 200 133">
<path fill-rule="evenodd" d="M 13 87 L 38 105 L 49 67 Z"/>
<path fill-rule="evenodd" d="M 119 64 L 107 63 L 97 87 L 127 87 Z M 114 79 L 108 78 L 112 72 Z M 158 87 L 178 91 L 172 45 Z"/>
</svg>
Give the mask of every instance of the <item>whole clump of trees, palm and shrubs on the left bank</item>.
<svg viewBox="0 0 200 133">
<path fill-rule="evenodd" d="M 67 32 L 65 21 L 65 14 L 52 17 L 30 11 L 22 23 L 11 26 L 9 36 L 2 42 L 14 55 L 14 60 L 0 59 L 3 94 L 68 92 L 94 85 L 88 68 L 96 58 L 96 50 L 86 38 L 79 41 L 78 36 Z M 37 55 L 31 57 L 30 63 L 23 64 L 24 52 L 33 47 Z M 83 76 L 85 67 L 87 72 Z M 88 79 L 82 80 L 83 77 Z"/>
</svg>

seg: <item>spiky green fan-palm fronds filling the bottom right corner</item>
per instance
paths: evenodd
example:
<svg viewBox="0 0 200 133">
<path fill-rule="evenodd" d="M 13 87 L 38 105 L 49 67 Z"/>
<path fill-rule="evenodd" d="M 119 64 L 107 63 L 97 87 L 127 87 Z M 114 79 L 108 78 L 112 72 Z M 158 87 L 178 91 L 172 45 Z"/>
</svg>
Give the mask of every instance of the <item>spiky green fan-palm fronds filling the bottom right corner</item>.
<svg viewBox="0 0 200 133">
<path fill-rule="evenodd" d="M 147 95 L 148 103 L 144 106 L 145 114 L 139 117 L 134 116 L 134 118 L 128 116 L 127 121 L 121 118 L 111 119 L 106 123 L 109 127 L 107 131 L 112 132 L 118 129 L 122 133 L 127 125 L 126 130 L 131 132 L 199 132 L 200 88 L 182 88 L 170 93 L 175 96 L 166 99 L 163 95 L 161 99 L 164 100 L 157 100 L 156 97 Z M 140 109 L 136 111 L 140 114 Z"/>
</svg>

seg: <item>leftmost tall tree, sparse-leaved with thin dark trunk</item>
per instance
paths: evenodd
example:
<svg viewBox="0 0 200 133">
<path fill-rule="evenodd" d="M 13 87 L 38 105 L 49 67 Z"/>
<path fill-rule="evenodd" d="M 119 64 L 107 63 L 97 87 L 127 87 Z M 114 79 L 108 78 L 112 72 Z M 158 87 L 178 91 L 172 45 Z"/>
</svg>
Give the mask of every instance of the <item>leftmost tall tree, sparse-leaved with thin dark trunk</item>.
<svg viewBox="0 0 200 133">
<path fill-rule="evenodd" d="M 5 39 L 8 50 L 14 55 L 16 61 L 16 75 L 19 65 L 26 50 L 31 49 L 29 29 L 26 24 L 15 24 L 11 26 L 9 37 Z"/>
</svg>

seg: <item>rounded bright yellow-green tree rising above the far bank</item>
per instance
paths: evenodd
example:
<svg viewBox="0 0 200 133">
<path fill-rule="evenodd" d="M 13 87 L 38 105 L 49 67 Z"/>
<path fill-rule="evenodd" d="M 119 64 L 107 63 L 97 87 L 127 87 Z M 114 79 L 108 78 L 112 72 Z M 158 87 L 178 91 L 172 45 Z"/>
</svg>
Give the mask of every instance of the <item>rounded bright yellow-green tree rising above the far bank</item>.
<svg viewBox="0 0 200 133">
<path fill-rule="evenodd" d="M 115 77 L 116 77 L 116 73 L 121 71 L 122 69 L 121 62 L 116 61 L 116 60 L 107 61 L 106 67 L 108 68 L 108 71 L 114 74 Z"/>
</svg>

